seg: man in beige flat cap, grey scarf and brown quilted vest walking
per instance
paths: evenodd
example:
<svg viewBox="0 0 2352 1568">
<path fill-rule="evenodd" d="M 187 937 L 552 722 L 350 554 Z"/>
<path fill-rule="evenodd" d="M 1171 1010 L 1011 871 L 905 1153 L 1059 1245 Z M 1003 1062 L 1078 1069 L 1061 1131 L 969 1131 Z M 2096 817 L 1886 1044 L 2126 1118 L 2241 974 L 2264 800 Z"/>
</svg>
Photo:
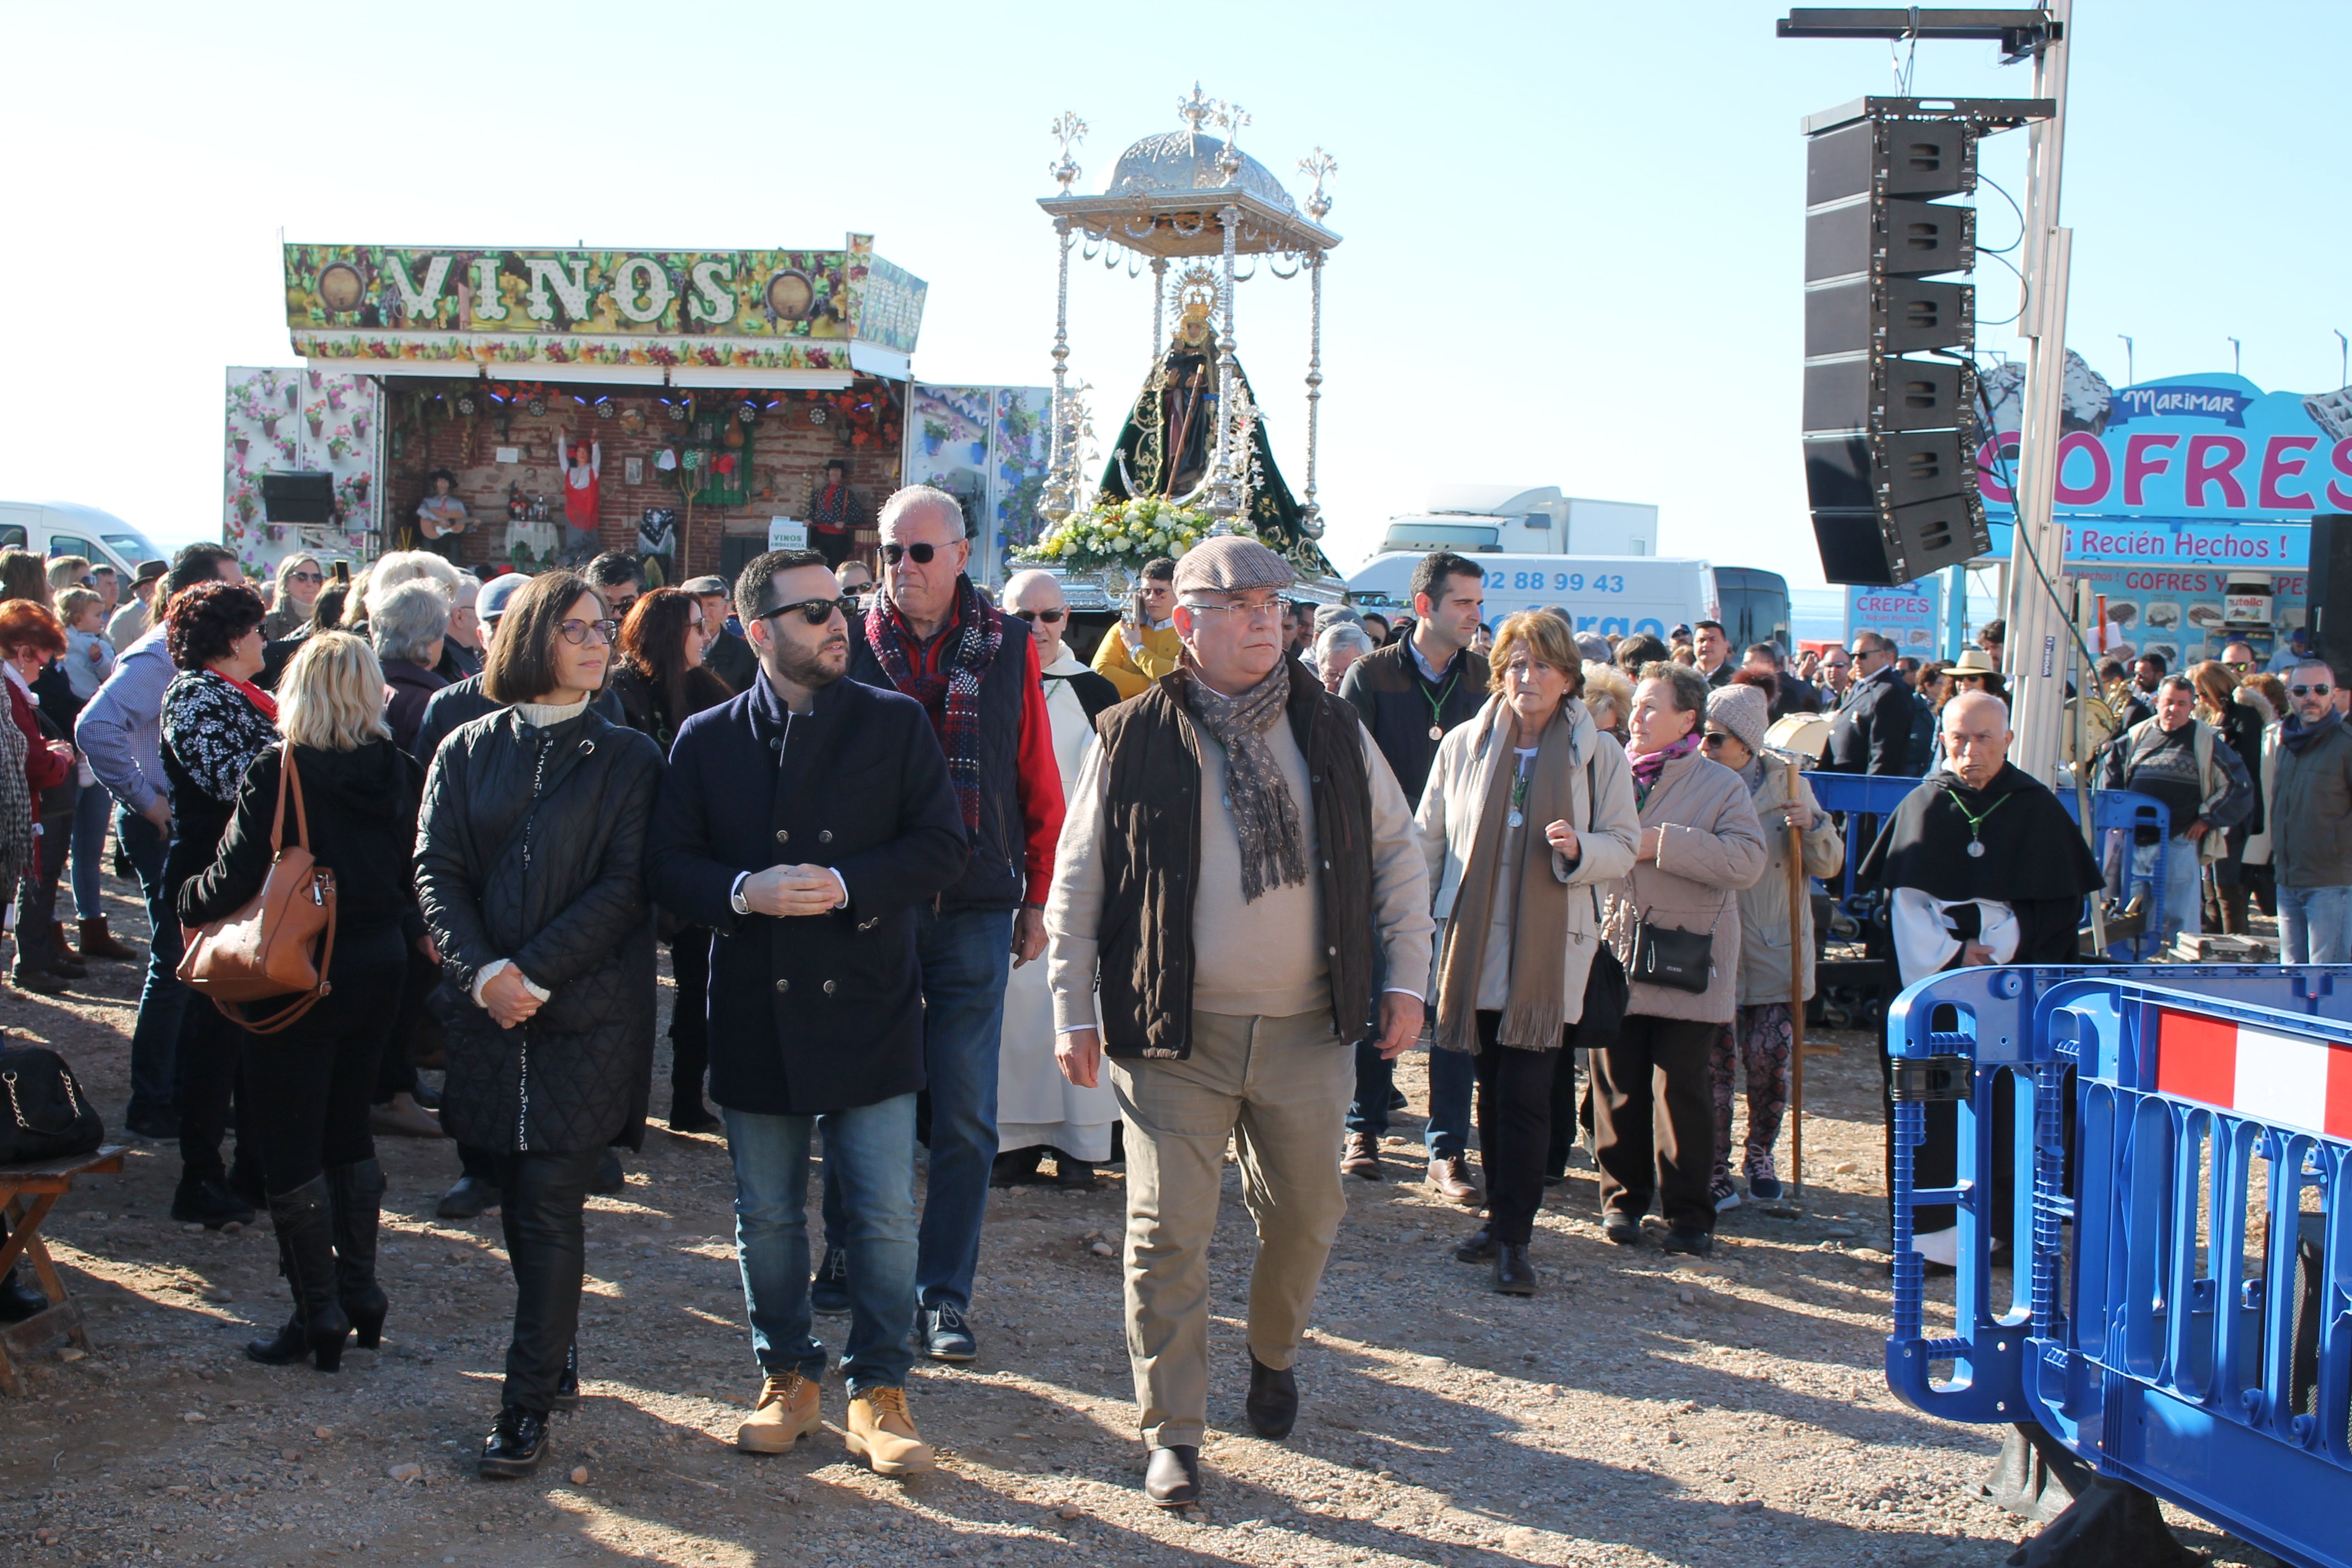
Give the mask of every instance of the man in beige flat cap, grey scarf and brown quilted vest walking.
<svg viewBox="0 0 2352 1568">
<path fill-rule="evenodd" d="M 1249 1425 L 1282 1439 L 1348 1208 L 1355 1041 L 1395 1058 L 1421 1034 L 1432 931 L 1411 802 L 1355 708 L 1284 658 L 1291 569 L 1218 536 L 1174 583 L 1183 658 L 1101 717 L 1047 900 L 1061 1070 L 1091 1086 L 1108 1056 L 1127 1121 L 1127 1356 L 1160 1507 L 1200 1500 L 1225 1143 L 1258 1227 Z"/>
</svg>

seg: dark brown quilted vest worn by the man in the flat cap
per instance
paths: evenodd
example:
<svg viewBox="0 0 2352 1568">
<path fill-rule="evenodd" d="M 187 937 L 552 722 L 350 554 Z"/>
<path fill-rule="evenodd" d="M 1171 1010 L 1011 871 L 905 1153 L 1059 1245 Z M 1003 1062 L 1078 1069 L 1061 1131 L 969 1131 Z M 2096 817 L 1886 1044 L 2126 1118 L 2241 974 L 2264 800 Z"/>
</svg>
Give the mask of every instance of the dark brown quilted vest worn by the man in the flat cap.
<svg viewBox="0 0 2352 1568">
<path fill-rule="evenodd" d="M 1371 780 L 1364 722 L 1289 663 L 1291 736 L 1308 759 L 1315 804 L 1310 875 L 1322 877 L 1331 959 L 1331 1025 L 1343 1039 L 1371 1027 Z M 1108 710 L 1103 745 L 1103 924 L 1096 985 L 1103 1051 L 1120 1058 L 1192 1051 L 1192 889 L 1200 882 L 1200 750 L 1169 675 Z M 1359 919 L 1338 919 L 1355 910 Z M 1336 929 L 1334 929 L 1336 926 Z"/>
</svg>

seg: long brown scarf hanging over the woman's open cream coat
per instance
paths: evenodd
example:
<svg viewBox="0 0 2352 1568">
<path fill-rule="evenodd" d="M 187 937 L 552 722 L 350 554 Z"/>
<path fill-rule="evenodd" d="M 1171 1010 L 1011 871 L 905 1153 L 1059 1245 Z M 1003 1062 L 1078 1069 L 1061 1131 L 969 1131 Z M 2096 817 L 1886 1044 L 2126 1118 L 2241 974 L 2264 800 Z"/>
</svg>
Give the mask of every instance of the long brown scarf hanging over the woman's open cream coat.
<svg viewBox="0 0 2352 1568">
<path fill-rule="evenodd" d="M 1498 865 L 1503 853 L 1503 818 L 1510 816 L 1510 783 L 1517 771 L 1510 755 L 1517 715 L 1501 696 L 1472 719 L 1479 726 L 1479 750 L 1494 755 L 1486 771 L 1486 799 L 1479 804 L 1477 830 L 1461 886 L 1454 889 L 1454 914 L 1446 922 L 1446 950 L 1437 971 L 1437 1046 L 1477 1051 L 1477 971 L 1486 954 L 1486 924 L 1501 877 L 1519 879 L 1519 914 L 1510 929 L 1510 1004 L 1496 1039 L 1524 1051 L 1557 1051 L 1569 1023 L 1566 961 L 1569 889 L 1552 875 L 1552 846 L 1543 830 L 1566 820 L 1573 809 L 1569 703 L 1543 726 L 1536 741 L 1536 766 L 1526 776 L 1524 832 L 1519 865 Z M 1573 823 L 1571 823 L 1573 825 Z"/>
</svg>

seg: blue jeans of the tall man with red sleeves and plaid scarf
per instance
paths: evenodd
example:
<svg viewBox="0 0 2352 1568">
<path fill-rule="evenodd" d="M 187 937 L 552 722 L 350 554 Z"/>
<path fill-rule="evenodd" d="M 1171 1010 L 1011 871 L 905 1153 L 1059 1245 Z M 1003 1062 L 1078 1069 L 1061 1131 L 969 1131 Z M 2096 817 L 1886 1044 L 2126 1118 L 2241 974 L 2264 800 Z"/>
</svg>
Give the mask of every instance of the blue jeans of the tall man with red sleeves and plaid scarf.
<svg viewBox="0 0 2352 1568">
<path fill-rule="evenodd" d="M 997 1161 L 997 1051 L 1004 1044 L 1011 945 L 1011 910 L 920 910 L 915 917 L 922 1074 L 931 1093 L 931 1180 L 922 1199 L 922 1255 L 915 1262 L 915 1295 L 924 1307 L 971 1307 L 988 1173 Z M 842 1190 L 828 1159 L 826 1246 L 842 1246 L 847 1234 Z M 856 1291 L 854 1262 L 849 1288 Z M 908 1326 L 913 1321 L 908 1314 Z"/>
</svg>

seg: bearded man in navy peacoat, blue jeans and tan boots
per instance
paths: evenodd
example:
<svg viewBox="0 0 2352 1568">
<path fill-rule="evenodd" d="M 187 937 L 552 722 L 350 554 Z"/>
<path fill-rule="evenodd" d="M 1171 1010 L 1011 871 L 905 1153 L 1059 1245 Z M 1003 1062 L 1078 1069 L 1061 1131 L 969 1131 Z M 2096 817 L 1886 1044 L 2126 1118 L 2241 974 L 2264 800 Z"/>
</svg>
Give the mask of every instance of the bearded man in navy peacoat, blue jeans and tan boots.
<svg viewBox="0 0 2352 1568">
<path fill-rule="evenodd" d="M 736 609 L 760 679 L 677 731 L 647 879 L 710 926 L 710 1098 L 736 1166 L 736 1244 L 767 1373 L 736 1434 L 816 1432 L 826 1349 L 809 1333 L 809 1133 L 849 1208 L 849 1448 L 882 1474 L 929 1469 L 906 1413 L 915 1321 L 915 910 L 969 856 L 922 705 L 842 679 L 849 625 L 811 550 L 743 569 Z M 764 806 L 762 806 L 764 802 Z"/>
</svg>

